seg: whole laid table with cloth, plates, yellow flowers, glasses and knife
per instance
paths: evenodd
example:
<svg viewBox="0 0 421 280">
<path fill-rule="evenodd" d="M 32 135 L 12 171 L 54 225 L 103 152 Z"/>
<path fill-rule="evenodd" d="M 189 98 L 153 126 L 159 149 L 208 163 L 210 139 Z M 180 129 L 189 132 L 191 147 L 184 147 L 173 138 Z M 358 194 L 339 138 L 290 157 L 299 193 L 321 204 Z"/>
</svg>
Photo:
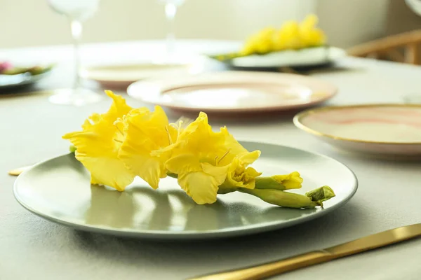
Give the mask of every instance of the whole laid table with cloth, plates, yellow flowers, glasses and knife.
<svg viewBox="0 0 421 280">
<path fill-rule="evenodd" d="M 175 40 L 162 2 L 166 41 L 80 45 L 99 1 L 48 0 L 74 45 L 0 49 L 0 279 L 417 279 L 419 66 L 315 15 Z"/>
</svg>

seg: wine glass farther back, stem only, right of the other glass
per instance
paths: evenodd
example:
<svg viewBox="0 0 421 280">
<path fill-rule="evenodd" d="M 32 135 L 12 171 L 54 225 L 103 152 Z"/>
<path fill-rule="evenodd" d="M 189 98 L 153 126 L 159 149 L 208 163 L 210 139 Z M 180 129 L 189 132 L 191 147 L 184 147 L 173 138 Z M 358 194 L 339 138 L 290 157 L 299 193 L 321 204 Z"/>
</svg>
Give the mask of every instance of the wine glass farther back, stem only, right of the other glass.
<svg viewBox="0 0 421 280">
<path fill-rule="evenodd" d="M 158 0 L 164 4 L 165 16 L 168 22 L 168 33 L 166 36 L 166 61 L 173 62 L 174 59 L 174 43 L 175 43 L 175 29 L 174 20 L 177 14 L 178 7 L 180 7 L 185 0 Z"/>
</svg>

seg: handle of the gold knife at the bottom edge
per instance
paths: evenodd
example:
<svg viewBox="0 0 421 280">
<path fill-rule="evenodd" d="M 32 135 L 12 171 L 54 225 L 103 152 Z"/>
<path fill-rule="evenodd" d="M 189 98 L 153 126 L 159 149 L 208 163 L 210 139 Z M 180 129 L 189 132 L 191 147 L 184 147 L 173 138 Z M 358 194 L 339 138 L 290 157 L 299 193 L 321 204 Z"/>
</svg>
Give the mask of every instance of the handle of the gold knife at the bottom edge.
<svg viewBox="0 0 421 280">
<path fill-rule="evenodd" d="M 218 274 L 208 274 L 190 280 L 260 280 L 301 267 L 326 262 L 328 260 L 332 260 L 333 258 L 335 258 L 334 255 L 326 251 L 314 251 L 303 255 L 297 255 L 293 258 L 270 262 L 264 265 Z"/>
</svg>

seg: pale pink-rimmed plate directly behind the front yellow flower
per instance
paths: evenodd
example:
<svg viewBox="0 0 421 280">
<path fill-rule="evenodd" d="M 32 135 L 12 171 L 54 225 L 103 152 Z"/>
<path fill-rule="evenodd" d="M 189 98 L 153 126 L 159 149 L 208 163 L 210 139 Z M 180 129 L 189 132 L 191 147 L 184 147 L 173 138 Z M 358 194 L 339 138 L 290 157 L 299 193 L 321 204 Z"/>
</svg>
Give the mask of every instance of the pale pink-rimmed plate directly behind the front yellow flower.
<svg viewBox="0 0 421 280">
<path fill-rule="evenodd" d="M 179 111 L 246 113 L 312 106 L 333 97 L 336 90 L 307 76 L 225 71 L 139 81 L 128 87 L 128 94 Z"/>
</svg>

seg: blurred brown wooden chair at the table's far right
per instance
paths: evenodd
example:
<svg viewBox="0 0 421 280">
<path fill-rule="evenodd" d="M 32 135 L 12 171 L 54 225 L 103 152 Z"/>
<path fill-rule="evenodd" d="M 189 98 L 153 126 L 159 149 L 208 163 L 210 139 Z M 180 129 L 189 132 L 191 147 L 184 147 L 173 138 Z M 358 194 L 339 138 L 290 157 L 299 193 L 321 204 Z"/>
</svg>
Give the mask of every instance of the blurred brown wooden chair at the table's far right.
<svg viewBox="0 0 421 280">
<path fill-rule="evenodd" d="M 392 60 L 408 64 L 421 64 L 421 29 L 387 36 L 356 45 L 347 50 L 348 55 Z"/>
</svg>

